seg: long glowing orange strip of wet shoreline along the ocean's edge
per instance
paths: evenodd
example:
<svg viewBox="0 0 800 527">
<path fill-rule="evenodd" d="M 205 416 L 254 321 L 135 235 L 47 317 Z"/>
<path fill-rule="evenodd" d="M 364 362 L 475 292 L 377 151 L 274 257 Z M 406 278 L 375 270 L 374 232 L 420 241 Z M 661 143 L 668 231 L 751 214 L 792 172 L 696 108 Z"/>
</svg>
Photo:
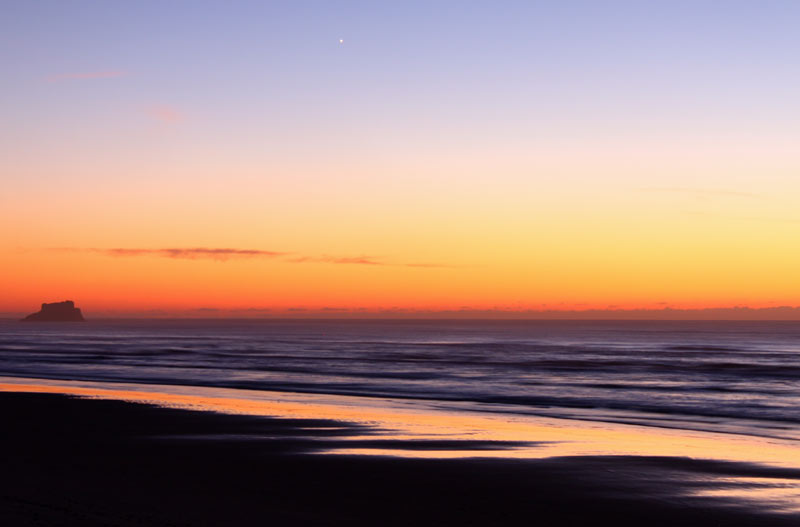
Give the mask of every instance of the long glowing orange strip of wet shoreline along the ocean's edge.
<svg viewBox="0 0 800 527">
<path fill-rule="evenodd" d="M 762 463 L 800 470 L 800 441 L 792 437 L 662 427 L 581 416 L 476 410 L 454 401 L 250 390 L 179 384 L 37 379 L 0 376 L 2 392 L 54 393 L 121 400 L 173 409 L 269 418 L 329 419 L 379 430 L 396 441 L 446 436 L 453 442 L 475 437 L 514 448 L 496 457 L 546 458 L 596 455 L 686 456 L 717 461 Z M 533 445 L 526 448 L 525 444 Z M 340 449 L 341 453 L 372 451 Z M 465 449 L 449 457 L 468 457 Z M 381 452 L 402 455 L 401 449 Z M 483 457 L 491 451 L 482 450 Z M 448 457 L 438 451 L 437 457 Z"/>
</svg>

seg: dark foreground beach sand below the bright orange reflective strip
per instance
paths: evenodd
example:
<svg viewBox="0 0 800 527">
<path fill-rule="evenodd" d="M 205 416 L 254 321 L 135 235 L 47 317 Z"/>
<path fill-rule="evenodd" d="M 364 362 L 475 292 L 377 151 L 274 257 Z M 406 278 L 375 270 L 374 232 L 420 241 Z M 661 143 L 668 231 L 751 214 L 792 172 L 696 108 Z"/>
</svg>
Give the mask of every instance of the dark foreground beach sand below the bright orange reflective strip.
<svg viewBox="0 0 800 527">
<path fill-rule="evenodd" d="M 173 406 L 167 408 L 91 388 L 80 398 L 33 393 L 69 391 L 63 386 L 2 389 L 3 525 L 789 526 L 800 521 L 787 502 L 800 483 L 800 469 L 792 463 L 749 463 L 738 455 L 726 461 L 724 452 L 716 459 L 631 455 L 624 445 L 618 455 L 513 457 L 546 451 L 555 441 L 537 443 L 544 428 L 529 437 L 436 433 L 435 413 L 418 416 L 434 427 L 427 434 L 387 431 L 387 421 L 377 418 L 345 418 L 369 415 L 370 406 L 339 405 L 336 414 L 292 400 L 289 404 L 308 411 L 266 417 L 257 415 L 263 407 L 240 406 L 237 414 L 208 411 L 210 404 L 223 403 L 196 395 L 182 402 L 174 394 L 172 399 L 138 395 L 140 401 L 160 399 Z M 187 409 L 190 403 L 203 410 Z M 574 437 L 569 430 L 575 427 L 564 427 L 565 444 Z M 604 435 L 619 427 L 587 430 Z M 667 443 L 677 441 L 667 437 Z M 491 457 L 475 457 L 482 453 Z M 737 491 L 755 495 L 743 499 Z"/>
</svg>

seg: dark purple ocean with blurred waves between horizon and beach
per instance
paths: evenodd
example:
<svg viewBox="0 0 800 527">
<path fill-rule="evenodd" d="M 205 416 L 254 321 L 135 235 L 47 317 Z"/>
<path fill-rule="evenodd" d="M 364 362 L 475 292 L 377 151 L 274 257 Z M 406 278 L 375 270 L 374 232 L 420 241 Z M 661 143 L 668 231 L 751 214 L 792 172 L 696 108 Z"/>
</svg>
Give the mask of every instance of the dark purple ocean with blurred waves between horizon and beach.
<svg viewBox="0 0 800 527">
<path fill-rule="evenodd" d="M 800 439 L 800 323 L 0 321 L 0 375 L 419 399 Z"/>
</svg>

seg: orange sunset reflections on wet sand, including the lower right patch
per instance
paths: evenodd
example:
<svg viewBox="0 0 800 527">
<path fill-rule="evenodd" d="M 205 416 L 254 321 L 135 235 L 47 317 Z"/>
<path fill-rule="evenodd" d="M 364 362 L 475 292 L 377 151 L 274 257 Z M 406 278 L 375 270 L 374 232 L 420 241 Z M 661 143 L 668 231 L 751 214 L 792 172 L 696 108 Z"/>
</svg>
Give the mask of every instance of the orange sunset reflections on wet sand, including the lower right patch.
<svg viewBox="0 0 800 527">
<path fill-rule="evenodd" d="M 445 409 L 441 401 L 22 378 L 0 378 L 0 391 L 340 422 L 346 433 L 337 434 L 332 426 L 329 436 L 310 440 L 318 444 L 313 452 L 328 455 L 669 459 L 660 465 L 654 461 L 653 466 L 696 481 L 689 487 L 695 496 L 749 500 L 771 510 L 800 512 L 800 445 L 788 439 L 462 411 L 457 405 Z"/>
</svg>

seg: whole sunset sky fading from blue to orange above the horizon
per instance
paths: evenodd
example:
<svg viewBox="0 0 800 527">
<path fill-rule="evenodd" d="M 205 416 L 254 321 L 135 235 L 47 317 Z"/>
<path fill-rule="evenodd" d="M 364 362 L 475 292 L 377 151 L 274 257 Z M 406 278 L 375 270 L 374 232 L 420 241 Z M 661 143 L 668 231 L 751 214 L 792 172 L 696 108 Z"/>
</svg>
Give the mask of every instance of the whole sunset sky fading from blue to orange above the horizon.
<svg viewBox="0 0 800 527">
<path fill-rule="evenodd" d="M 798 2 L 3 13 L 0 312 L 800 305 Z"/>
</svg>

